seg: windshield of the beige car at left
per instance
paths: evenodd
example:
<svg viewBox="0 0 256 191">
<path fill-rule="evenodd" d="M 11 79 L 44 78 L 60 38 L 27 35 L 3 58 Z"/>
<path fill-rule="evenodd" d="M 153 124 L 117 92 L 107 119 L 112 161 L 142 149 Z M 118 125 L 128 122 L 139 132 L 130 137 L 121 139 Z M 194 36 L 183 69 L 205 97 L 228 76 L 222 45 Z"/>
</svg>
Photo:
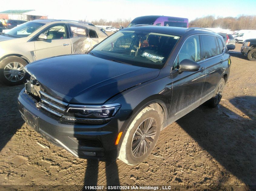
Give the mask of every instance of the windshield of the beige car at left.
<svg viewBox="0 0 256 191">
<path fill-rule="evenodd" d="M 4 35 L 8 35 L 10 37 L 21 38 L 27 37 L 32 32 L 37 30 L 39 27 L 42 27 L 44 23 L 36 23 L 36 22 L 26 22 L 17 27 L 8 30 Z"/>
</svg>

